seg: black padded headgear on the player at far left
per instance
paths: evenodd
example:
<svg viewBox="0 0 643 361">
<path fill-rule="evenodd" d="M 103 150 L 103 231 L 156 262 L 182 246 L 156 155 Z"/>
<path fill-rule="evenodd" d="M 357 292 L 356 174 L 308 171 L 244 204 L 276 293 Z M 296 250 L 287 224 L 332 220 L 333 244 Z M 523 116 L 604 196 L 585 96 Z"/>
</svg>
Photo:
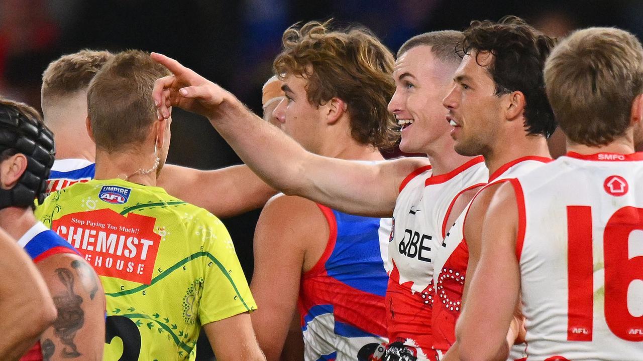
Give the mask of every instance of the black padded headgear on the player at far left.
<svg viewBox="0 0 643 361">
<path fill-rule="evenodd" d="M 0 209 L 29 207 L 35 199 L 42 203 L 55 155 L 51 130 L 31 114 L 0 103 L 0 156 L 5 151 L 12 155 L 24 154 L 28 161 L 14 188 L 0 188 Z"/>
</svg>

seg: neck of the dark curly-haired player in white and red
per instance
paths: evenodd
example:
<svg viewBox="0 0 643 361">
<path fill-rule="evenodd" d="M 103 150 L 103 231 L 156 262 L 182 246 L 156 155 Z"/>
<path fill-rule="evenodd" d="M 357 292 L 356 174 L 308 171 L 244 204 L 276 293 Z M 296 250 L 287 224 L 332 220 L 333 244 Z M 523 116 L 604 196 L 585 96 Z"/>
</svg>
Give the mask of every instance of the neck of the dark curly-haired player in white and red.
<svg viewBox="0 0 643 361">
<path fill-rule="evenodd" d="M 546 157 L 551 158 L 547 140 L 544 136 L 523 136 L 516 137 L 511 141 L 498 142 L 492 146 L 489 152 L 484 155 L 484 161 L 489 169 L 489 174 L 493 174 L 503 165 L 523 157 Z"/>
</svg>

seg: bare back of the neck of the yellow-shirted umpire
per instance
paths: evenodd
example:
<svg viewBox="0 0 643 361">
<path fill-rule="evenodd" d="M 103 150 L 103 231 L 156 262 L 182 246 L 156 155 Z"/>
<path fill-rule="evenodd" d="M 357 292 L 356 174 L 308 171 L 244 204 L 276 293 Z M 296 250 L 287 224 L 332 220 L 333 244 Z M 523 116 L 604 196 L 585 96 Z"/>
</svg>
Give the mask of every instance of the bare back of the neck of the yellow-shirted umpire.
<svg viewBox="0 0 643 361">
<path fill-rule="evenodd" d="M 154 154 L 138 150 L 108 154 L 96 150 L 95 179 L 123 179 L 143 186 L 156 186 L 157 169 Z"/>
</svg>

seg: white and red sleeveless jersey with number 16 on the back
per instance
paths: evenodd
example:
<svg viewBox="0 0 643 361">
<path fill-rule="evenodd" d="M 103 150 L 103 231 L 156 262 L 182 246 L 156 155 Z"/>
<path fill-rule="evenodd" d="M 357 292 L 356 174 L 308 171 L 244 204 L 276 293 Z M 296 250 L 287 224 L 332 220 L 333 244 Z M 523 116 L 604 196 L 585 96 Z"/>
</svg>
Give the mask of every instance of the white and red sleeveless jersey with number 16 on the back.
<svg viewBox="0 0 643 361">
<path fill-rule="evenodd" d="M 643 153 L 511 180 L 527 360 L 643 360 Z"/>
</svg>

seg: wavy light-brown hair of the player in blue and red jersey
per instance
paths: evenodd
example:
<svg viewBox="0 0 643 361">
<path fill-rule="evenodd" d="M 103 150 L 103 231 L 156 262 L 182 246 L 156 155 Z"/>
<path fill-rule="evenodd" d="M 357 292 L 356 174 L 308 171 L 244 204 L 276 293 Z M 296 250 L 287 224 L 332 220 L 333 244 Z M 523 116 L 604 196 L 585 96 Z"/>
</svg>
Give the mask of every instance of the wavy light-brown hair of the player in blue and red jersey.
<svg viewBox="0 0 643 361">
<path fill-rule="evenodd" d="M 386 107 L 395 92 L 393 54 L 361 27 L 330 30 L 331 21 L 295 24 L 284 31 L 275 73 L 308 81 L 309 103 L 323 105 L 334 97 L 348 105 L 350 134 L 361 144 L 390 148 L 399 137 Z"/>
</svg>

